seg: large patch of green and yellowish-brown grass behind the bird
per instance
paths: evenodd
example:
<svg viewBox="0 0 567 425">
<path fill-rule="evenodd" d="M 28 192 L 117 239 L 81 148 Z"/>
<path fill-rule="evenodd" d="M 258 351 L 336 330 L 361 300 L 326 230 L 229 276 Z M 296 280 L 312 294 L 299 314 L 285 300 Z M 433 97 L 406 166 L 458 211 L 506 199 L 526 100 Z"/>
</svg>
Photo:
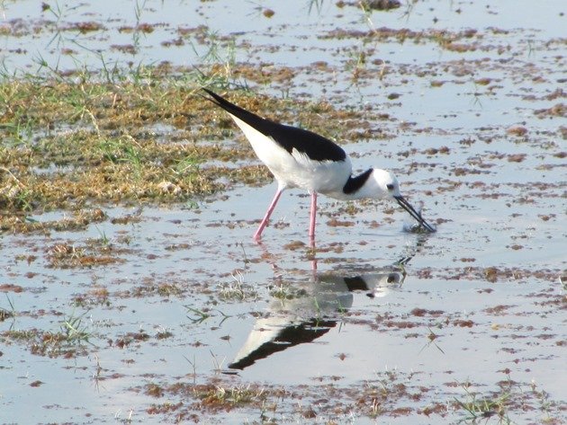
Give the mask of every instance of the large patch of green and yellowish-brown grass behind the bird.
<svg viewBox="0 0 567 425">
<path fill-rule="evenodd" d="M 224 189 L 226 179 L 270 182 L 229 116 L 198 95 L 203 85 L 217 91 L 234 87 L 232 101 L 251 111 L 261 107 L 260 113 L 276 120 L 301 122 L 329 137 L 364 137 L 362 112 L 336 111 L 327 102 L 258 102 L 247 83 L 238 83 L 236 75 L 258 74 L 238 64 L 233 42 L 201 36 L 206 51 L 192 69 L 143 64 L 120 69 L 101 57 L 98 74 L 77 66 L 62 75 L 43 62 L 36 75 L 0 73 L 0 231 L 58 226 L 30 223 L 25 219 L 30 213 L 80 214 L 105 203 L 194 206 Z M 259 75 L 257 83 L 270 77 Z M 237 160 L 251 164 L 230 166 Z"/>
</svg>

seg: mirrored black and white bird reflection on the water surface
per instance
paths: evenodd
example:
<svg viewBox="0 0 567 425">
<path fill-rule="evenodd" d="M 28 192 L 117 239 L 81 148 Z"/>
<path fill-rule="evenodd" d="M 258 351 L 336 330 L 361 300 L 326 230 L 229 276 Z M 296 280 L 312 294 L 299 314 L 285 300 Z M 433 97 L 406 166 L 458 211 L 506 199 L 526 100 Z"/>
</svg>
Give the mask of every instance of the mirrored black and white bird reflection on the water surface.
<svg viewBox="0 0 567 425">
<path fill-rule="evenodd" d="M 275 352 L 320 338 L 353 305 L 353 291 L 384 297 L 400 288 L 405 276 L 397 266 L 360 275 L 321 273 L 315 282 L 310 279 L 293 294 L 287 294 L 290 298 L 277 298 L 268 306 L 266 317 L 257 319 L 229 368 L 244 369 Z"/>
</svg>

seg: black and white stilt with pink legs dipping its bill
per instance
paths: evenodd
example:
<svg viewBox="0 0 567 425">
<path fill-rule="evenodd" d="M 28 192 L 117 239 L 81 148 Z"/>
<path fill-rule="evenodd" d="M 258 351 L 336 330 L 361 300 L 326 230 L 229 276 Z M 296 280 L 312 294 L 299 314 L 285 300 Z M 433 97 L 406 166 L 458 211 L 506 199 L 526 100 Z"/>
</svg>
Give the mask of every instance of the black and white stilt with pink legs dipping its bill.
<svg viewBox="0 0 567 425">
<path fill-rule="evenodd" d="M 203 90 L 211 96 L 205 97 L 206 99 L 229 112 L 232 120 L 244 132 L 257 157 L 266 164 L 277 181 L 275 197 L 254 234 L 256 240 L 260 239 L 282 192 L 290 188 L 307 190 L 311 194 L 311 242 L 315 237 L 318 193 L 342 200 L 395 199 L 426 231 L 436 231 L 421 217 L 419 211 L 401 196 L 400 183 L 391 172 L 370 168 L 353 176 L 350 158 L 340 146 L 328 138 L 306 129 L 261 118 L 211 90 Z"/>
</svg>

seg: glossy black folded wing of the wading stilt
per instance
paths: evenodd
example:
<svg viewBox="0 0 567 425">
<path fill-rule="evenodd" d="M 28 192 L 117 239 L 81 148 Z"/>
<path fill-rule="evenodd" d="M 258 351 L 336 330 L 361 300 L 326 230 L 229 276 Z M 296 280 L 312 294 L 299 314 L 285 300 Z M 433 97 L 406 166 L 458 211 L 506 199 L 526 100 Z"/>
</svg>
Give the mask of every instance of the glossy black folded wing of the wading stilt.
<svg viewBox="0 0 567 425">
<path fill-rule="evenodd" d="M 260 133 L 267 137 L 272 137 L 275 143 L 284 147 L 290 154 L 295 149 L 309 156 L 314 161 L 344 161 L 347 157 L 347 154 L 340 146 L 326 137 L 322 137 L 309 130 L 278 124 L 272 120 L 258 117 L 255 113 L 240 108 L 220 97 L 217 93 L 211 92 L 211 90 L 205 88 L 202 90 L 211 96 L 211 98 L 207 98 L 211 102 L 239 120 L 243 120 L 247 125 L 256 128 Z"/>
</svg>

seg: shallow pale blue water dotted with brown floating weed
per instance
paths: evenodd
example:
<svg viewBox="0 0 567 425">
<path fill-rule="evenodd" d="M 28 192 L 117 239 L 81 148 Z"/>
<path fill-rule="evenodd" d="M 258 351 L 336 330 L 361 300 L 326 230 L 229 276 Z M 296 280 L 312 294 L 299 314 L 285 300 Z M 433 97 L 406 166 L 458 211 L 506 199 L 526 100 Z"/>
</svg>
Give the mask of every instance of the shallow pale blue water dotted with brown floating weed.
<svg viewBox="0 0 567 425">
<path fill-rule="evenodd" d="M 178 37 L 180 26 L 208 25 L 234 38 L 237 61 L 296 68 L 292 81 L 259 87 L 262 93 L 280 95 L 285 88 L 291 95 L 320 97 L 326 89 L 324 96 L 345 107 L 388 112 L 391 120 L 370 125 L 392 138 L 342 143 L 356 154 L 357 169 L 397 173 L 402 191 L 413 204 L 424 203 L 424 216 L 438 232 L 403 232 L 409 217 L 387 202 L 355 203 L 347 210 L 320 197 L 315 270 L 306 235 L 309 198 L 298 191 L 284 195 L 263 243 L 251 240 L 273 183 L 234 187 L 226 197 L 202 199 L 197 208 L 99 206 L 109 219 L 82 232 L 4 234 L 0 288 L 6 297 L 0 306 L 14 308 L 15 317 L 0 323 L 0 420 L 163 422 L 180 415 L 194 421 L 196 412 L 205 423 L 266 417 L 455 423 L 464 418 L 455 398 L 470 400 L 467 390 L 491 397 L 506 387 L 514 401 L 507 412 L 512 421 L 539 423 L 546 415 L 552 423 L 564 421 L 567 394 L 558 377 L 567 372 L 560 282 L 567 252 L 565 116 L 540 111 L 565 98 L 563 3 L 421 2 L 407 15 L 403 8 L 372 13 L 374 27 L 355 7 L 328 2 L 320 13 L 308 13 L 307 2 L 263 3 L 275 11 L 271 19 L 255 4 L 238 10 L 230 4 L 146 2 L 139 21 L 152 23 L 154 31 L 134 40 L 119 31 L 136 25 L 130 2 L 112 2 L 112 15 L 101 13 L 103 7 L 60 4 L 66 12 L 58 22 L 35 2 L 8 2 L 3 28 L 18 27 L 11 20 L 22 19 L 24 28 L 42 29 L 20 37 L 3 32 L 0 54 L 10 70 L 24 72 L 36 69 L 35 51 L 50 66 L 75 66 L 61 56 L 68 46 L 79 63 L 100 67 L 100 55 L 76 43 L 105 49 L 111 64 L 170 60 L 189 66 L 200 60 L 190 41 L 199 54 L 206 45 L 190 37 L 180 47 L 160 43 Z M 530 7 L 537 13 L 524 13 Z M 57 32 L 85 21 L 102 22 L 104 30 Z M 460 53 L 431 40 L 365 44 L 329 38 L 337 28 L 382 26 L 474 28 L 479 36 L 473 41 L 481 47 Z M 131 57 L 108 50 L 136 42 Z M 23 46 L 25 54 L 15 53 Z M 352 52 L 370 48 L 367 74 L 355 81 Z M 388 62 L 382 80 L 373 59 Z M 327 61 L 329 71 L 318 71 L 315 60 Z M 475 83 L 480 78 L 491 83 Z M 434 80 L 443 84 L 432 86 Z M 388 100 L 390 93 L 401 97 Z M 510 134 L 513 126 L 526 133 Z M 446 153 L 428 151 L 442 146 Z M 112 224 L 127 215 L 139 221 Z M 61 247 L 74 247 L 76 258 L 119 261 L 77 267 L 72 255 L 58 261 Z M 88 343 L 57 350 L 47 344 L 47 351 L 33 354 L 31 342 L 8 333 L 58 332 L 77 317 L 90 334 Z M 509 387 L 502 384 L 510 380 Z M 258 385 L 287 396 L 272 395 L 275 406 L 269 408 L 243 403 L 227 413 L 223 404 L 215 409 L 175 393 L 172 385 L 180 383 Z M 152 395 L 148 385 L 165 393 Z M 390 394 L 374 416 L 367 397 L 372 392 L 365 393 L 373 388 Z M 553 403 L 545 404 L 542 394 Z M 151 411 L 166 403 L 181 405 Z M 315 416 L 305 413 L 310 406 Z M 435 409 L 426 416 L 428 406 Z"/>
</svg>

